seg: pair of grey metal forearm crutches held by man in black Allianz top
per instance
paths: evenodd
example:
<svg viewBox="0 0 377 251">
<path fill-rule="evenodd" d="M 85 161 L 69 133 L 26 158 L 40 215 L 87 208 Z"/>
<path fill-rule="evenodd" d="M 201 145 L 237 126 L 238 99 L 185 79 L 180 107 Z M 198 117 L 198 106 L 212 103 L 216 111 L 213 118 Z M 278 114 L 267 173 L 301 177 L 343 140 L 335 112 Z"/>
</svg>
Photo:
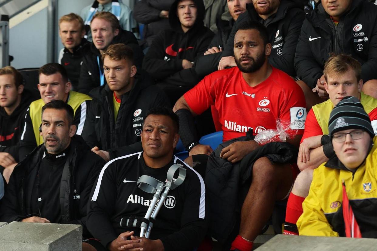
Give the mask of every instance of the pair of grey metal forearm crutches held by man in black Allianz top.
<svg viewBox="0 0 377 251">
<path fill-rule="evenodd" d="M 179 171 L 178 177 L 175 179 L 175 173 Z M 166 184 L 160 187 L 161 181 L 156 180 L 148 175 L 140 176 L 138 183 L 139 188 L 147 193 L 155 193 L 153 195 L 152 203 L 150 204 L 146 215 L 141 223 L 140 237 L 149 238 L 150 232 L 152 231 L 153 222 L 159 210 L 164 204 L 164 201 L 169 193 L 169 190 L 173 190 L 183 183 L 186 177 L 186 169 L 180 164 L 173 164 L 170 166 L 166 175 Z M 163 183 L 162 183 L 163 184 Z M 162 193 L 161 193 L 162 191 Z"/>
</svg>

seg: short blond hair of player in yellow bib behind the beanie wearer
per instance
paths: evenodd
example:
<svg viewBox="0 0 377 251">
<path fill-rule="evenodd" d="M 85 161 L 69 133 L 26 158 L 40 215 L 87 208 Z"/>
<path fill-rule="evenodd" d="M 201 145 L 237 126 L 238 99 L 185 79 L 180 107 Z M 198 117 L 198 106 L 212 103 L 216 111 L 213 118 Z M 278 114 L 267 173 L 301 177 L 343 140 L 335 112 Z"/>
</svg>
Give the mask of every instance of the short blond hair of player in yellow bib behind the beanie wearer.
<svg viewBox="0 0 377 251">
<path fill-rule="evenodd" d="M 328 74 L 335 73 L 336 75 L 345 73 L 349 69 L 354 70 L 357 82 L 361 79 L 361 64 L 356 59 L 346 54 L 333 54 L 325 63 L 323 75 L 327 81 Z"/>
</svg>

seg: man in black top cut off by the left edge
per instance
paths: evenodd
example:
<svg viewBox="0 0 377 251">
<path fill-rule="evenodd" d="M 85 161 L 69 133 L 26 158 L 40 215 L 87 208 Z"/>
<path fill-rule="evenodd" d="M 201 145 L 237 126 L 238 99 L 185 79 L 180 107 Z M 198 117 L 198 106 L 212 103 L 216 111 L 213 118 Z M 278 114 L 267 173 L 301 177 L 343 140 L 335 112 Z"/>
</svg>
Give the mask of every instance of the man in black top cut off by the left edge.
<svg viewBox="0 0 377 251">
<path fill-rule="evenodd" d="M 18 162 L 18 141 L 25 112 L 33 101 L 24 89 L 19 71 L 11 66 L 0 69 L 0 172 Z M 1 179 L 1 178 L 0 178 Z"/>
</svg>

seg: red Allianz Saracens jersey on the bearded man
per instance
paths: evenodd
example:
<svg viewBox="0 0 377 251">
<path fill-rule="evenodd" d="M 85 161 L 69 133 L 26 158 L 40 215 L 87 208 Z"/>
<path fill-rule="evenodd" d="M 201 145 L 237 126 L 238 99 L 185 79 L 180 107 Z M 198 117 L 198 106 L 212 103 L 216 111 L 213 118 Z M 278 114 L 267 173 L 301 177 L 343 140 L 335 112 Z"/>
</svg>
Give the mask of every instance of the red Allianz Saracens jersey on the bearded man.
<svg viewBox="0 0 377 251">
<path fill-rule="evenodd" d="M 293 129 L 302 135 L 307 115 L 305 97 L 299 85 L 286 73 L 272 67 L 271 75 L 250 87 L 238 67 L 215 71 L 184 94 L 197 114 L 211 105 L 219 113 L 223 141 L 244 136 L 248 129 L 258 134 L 276 129 L 276 119 L 296 122 Z"/>
</svg>

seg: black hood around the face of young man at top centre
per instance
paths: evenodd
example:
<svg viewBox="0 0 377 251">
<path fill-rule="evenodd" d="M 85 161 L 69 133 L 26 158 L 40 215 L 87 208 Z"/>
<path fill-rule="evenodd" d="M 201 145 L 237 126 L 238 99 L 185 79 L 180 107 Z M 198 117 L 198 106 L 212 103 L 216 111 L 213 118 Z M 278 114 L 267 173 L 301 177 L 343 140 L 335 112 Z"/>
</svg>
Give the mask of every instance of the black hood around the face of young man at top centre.
<svg viewBox="0 0 377 251">
<path fill-rule="evenodd" d="M 181 1 L 182 0 L 176 0 L 172 4 L 172 6 L 170 6 L 169 24 L 170 24 L 170 27 L 172 28 L 172 30 L 183 32 L 182 27 L 181 27 L 181 22 L 179 22 L 179 18 L 176 14 L 178 3 L 181 2 Z M 195 27 L 204 26 L 203 20 L 204 20 L 205 8 L 204 8 L 203 0 L 193 0 L 193 2 L 196 5 L 197 15 L 196 15 L 195 24 L 194 24 L 193 27 L 191 27 L 191 29 L 195 29 Z"/>
</svg>

